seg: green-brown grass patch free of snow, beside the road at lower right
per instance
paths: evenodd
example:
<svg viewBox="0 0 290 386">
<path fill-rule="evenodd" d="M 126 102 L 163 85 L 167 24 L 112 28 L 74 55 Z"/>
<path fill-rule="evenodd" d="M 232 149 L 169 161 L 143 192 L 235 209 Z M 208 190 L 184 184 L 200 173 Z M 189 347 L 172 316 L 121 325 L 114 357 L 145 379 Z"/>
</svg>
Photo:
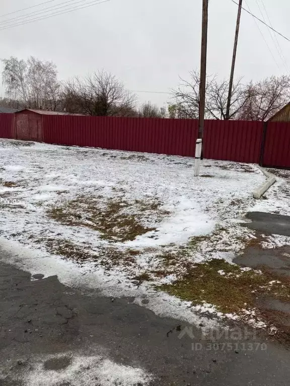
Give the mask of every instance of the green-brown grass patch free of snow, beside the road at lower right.
<svg viewBox="0 0 290 386">
<path fill-rule="evenodd" d="M 280 283 L 270 284 L 272 280 Z M 237 314 L 242 309 L 254 307 L 257 296 L 267 295 L 281 301 L 289 301 L 290 296 L 289 278 L 266 271 L 262 274 L 254 270 L 243 271 L 240 266 L 221 259 L 187 267 L 182 279 L 159 288 L 194 305 L 206 302 L 223 313 Z"/>
</svg>

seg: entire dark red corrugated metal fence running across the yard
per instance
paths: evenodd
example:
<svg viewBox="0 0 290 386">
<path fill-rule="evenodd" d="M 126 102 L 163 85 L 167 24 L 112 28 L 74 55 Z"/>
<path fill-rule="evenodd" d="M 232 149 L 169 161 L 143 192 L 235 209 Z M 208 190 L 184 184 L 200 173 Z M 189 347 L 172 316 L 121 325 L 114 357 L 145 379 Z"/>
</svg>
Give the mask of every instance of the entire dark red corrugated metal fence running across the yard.
<svg viewBox="0 0 290 386">
<path fill-rule="evenodd" d="M 41 115 L 41 123 L 46 143 L 189 157 L 198 133 L 197 120 Z M 0 137 L 17 138 L 14 114 L 0 114 Z M 207 120 L 203 143 L 205 158 L 290 168 L 287 123 Z"/>
</svg>

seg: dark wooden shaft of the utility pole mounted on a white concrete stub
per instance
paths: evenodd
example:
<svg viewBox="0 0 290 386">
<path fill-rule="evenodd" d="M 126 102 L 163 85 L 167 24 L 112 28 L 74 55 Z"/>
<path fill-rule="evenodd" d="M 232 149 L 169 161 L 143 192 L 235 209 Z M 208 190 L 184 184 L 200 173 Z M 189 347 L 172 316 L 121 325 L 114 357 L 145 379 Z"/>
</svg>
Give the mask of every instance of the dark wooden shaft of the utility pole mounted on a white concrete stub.
<svg viewBox="0 0 290 386">
<path fill-rule="evenodd" d="M 203 138 L 205 87 L 206 87 L 206 52 L 207 52 L 207 21 L 208 0 L 202 0 L 202 29 L 201 29 L 201 56 L 200 56 L 200 84 L 199 84 L 199 124 L 198 138 Z"/>
</svg>

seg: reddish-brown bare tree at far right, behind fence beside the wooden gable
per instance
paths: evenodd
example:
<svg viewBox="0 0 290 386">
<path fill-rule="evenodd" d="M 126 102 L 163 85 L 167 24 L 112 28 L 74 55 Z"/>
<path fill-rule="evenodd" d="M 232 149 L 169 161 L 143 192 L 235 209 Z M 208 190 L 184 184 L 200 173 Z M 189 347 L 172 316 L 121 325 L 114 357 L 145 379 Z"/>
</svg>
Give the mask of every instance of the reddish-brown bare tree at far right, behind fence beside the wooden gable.
<svg viewBox="0 0 290 386">
<path fill-rule="evenodd" d="M 245 89 L 247 102 L 238 119 L 265 121 L 278 112 L 290 99 L 290 76 L 271 76 L 250 82 Z"/>
</svg>

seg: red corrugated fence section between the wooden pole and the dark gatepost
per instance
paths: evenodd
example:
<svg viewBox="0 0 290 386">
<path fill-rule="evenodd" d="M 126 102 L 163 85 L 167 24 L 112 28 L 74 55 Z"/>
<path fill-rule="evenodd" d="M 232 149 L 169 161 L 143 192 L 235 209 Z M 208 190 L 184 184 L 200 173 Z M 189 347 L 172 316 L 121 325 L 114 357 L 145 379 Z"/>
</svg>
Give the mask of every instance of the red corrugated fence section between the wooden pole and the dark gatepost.
<svg viewBox="0 0 290 386">
<path fill-rule="evenodd" d="M 206 120 L 204 158 L 258 163 L 262 133 L 261 122 Z"/>
</svg>

